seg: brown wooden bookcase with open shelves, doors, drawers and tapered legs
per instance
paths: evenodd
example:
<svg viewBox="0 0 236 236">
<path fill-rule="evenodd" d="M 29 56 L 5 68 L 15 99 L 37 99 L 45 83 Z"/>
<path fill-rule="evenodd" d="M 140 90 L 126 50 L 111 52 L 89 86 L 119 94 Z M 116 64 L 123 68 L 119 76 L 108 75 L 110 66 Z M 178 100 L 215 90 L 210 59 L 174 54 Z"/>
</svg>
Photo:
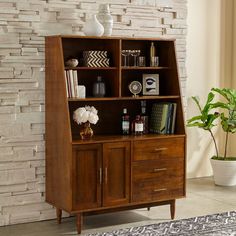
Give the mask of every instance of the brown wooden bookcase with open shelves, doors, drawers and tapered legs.
<svg viewBox="0 0 236 236">
<path fill-rule="evenodd" d="M 159 67 L 123 67 L 121 51 L 140 49 L 149 64 L 154 42 Z M 65 67 L 69 57 L 80 58 L 85 50 L 106 50 L 110 67 Z M 77 71 L 79 84 L 86 86 L 86 98 L 67 98 L 64 70 Z M 142 74 L 159 74 L 159 96 L 132 97 L 128 85 L 142 82 Z M 92 85 L 100 75 L 106 96 L 92 97 Z M 157 102 L 177 103 L 175 132 L 171 135 L 121 135 L 121 114 L 140 114 L 146 100 L 147 113 Z M 81 140 L 73 111 L 90 105 L 98 110 L 91 140 Z M 183 110 L 174 40 L 118 37 L 46 37 L 46 201 L 61 212 L 82 216 L 170 204 L 185 196 L 185 146 Z"/>
</svg>

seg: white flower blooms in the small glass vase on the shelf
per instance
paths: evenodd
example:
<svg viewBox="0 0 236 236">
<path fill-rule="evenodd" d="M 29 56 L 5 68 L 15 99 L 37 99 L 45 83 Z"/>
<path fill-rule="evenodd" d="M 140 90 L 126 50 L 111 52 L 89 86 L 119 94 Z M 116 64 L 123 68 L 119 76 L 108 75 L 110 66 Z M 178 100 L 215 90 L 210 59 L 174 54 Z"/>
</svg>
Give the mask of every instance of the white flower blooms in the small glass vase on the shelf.
<svg viewBox="0 0 236 236">
<path fill-rule="evenodd" d="M 99 120 L 98 111 L 94 106 L 79 107 L 74 111 L 73 120 L 79 125 L 86 122 L 96 124 Z"/>
</svg>

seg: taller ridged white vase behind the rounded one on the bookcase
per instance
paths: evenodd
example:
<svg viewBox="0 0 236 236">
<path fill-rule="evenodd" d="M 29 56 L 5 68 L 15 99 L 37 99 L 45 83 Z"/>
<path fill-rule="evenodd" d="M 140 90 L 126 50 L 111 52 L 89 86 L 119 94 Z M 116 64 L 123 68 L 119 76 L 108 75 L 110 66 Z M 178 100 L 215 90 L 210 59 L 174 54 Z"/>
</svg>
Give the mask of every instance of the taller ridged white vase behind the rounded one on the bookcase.
<svg viewBox="0 0 236 236">
<path fill-rule="evenodd" d="M 98 20 L 104 27 L 104 36 L 110 36 L 113 28 L 113 18 L 110 14 L 110 8 L 108 4 L 100 4 L 98 12 Z"/>
</svg>

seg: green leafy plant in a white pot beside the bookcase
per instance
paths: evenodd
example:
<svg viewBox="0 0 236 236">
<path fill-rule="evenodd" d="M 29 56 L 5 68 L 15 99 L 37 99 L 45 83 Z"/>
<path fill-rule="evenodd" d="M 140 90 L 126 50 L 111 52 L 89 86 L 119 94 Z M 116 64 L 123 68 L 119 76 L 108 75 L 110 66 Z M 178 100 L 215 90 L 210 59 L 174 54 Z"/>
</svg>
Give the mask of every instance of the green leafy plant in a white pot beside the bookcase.
<svg viewBox="0 0 236 236">
<path fill-rule="evenodd" d="M 216 100 L 219 94 L 223 100 Z M 198 127 L 209 132 L 215 146 L 216 155 L 211 158 L 214 181 L 217 185 L 236 185 L 236 157 L 229 157 L 229 134 L 236 132 L 236 90 L 227 88 L 212 88 L 208 94 L 205 105 L 200 105 L 197 97 L 192 97 L 200 113 L 187 121 L 188 127 Z M 218 119 L 220 119 L 218 121 Z M 225 133 L 224 151 L 220 155 L 219 148 L 214 137 L 213 128 L 221 126 Z"/>
</svg>

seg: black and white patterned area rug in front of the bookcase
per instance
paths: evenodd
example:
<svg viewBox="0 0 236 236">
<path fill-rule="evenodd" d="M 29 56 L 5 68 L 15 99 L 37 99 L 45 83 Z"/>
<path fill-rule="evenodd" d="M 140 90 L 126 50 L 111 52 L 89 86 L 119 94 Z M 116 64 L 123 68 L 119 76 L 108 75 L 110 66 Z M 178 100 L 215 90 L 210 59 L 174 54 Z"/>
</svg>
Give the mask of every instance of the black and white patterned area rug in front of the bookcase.
<svg viewBox="0 0 236 236">
<path fill-rule="evenodd" d="M 236 236 L 236 211 L 198 216 L 88 236 Z"/>
</svg>

